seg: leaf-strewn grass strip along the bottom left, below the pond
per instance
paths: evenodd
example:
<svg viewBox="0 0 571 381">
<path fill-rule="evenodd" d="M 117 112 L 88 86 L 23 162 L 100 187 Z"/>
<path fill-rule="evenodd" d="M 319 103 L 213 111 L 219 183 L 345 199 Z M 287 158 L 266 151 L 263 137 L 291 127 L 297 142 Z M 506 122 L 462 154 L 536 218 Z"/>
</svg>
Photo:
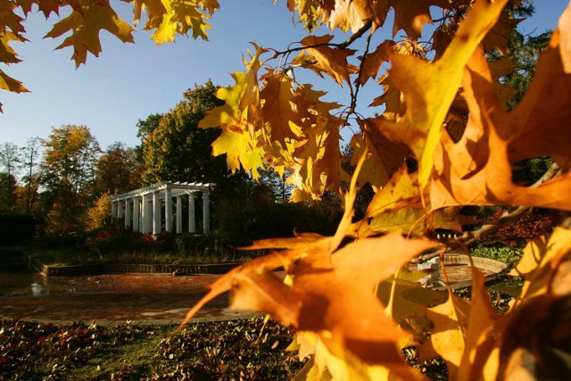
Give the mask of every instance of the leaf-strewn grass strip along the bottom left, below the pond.
<svg viewBox="0 0 571 381">
<path fill-rule="evenodd" d="M 174 326 L 0 322 L 0 379 L 290 379 L 292 332 L 263 319 Z"/>
</svg>

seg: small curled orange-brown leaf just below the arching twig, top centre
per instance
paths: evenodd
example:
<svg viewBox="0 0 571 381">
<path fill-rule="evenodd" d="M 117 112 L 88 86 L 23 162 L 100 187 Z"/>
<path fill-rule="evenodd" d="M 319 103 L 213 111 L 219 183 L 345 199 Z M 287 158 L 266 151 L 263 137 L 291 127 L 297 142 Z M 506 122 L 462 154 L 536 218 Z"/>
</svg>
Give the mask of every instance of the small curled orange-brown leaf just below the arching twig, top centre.
<svg viewBox="0 0 571 381">
<path fill-rule="evenodd" d="M 313 70 L 321 78 L 322 73 L 326 73 L 342 85 L 343 80 L 349 82 L 349 75 L 358 72 L 359 68 L 347 62 L 347 57 L 355 51 L 329 47 L 332 38 L 330 35 L 304 37 L 301 44 L 305 49 L 292 60 L 292 64 Z"/>
</svg>

